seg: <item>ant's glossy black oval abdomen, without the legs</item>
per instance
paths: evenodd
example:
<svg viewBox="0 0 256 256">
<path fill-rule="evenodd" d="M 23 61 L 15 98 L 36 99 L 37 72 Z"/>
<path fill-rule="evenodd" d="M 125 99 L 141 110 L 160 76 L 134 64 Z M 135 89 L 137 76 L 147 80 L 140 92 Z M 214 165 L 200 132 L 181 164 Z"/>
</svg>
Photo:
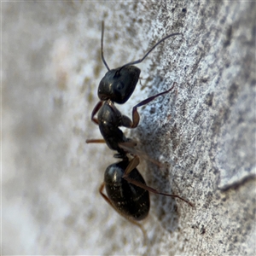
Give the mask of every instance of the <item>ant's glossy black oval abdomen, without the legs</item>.
<svg viewBox="0 0 256 256">
<path fill-rule="evenodd" d="M 150 207 L 149 193 L 148 190 L 125 180 L 124 173 L 128 165 L 129 160 L 122 160 L 119 163 L 108 166 L 104 177 L 105 188 L 108 199 L 117 212 L 125 216 L 125 218 L 142 220 L 148 216 Z M 137 168 L 134 168 L 129 173 L 129 178 L 146 185 Z"/>
</svg>

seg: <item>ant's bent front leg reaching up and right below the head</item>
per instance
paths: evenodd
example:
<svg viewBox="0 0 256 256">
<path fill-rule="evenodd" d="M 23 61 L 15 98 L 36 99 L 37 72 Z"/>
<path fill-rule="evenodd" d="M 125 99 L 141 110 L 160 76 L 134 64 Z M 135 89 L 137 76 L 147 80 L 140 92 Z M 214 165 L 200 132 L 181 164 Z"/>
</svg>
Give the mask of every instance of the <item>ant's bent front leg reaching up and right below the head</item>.
<svg viewBox="0 0 256 256">
<path fill-rule="evenodd" d="M 151 96 L 151 97 L 148 97 L 148 99 L 146 100 L 143 100 L 142 102 L 139 102 L 136 106 L 134 106 L 132 108 L 132 121 L 131 119 L 129 119 L 128 117 L 126 117 L 125 115 L 122 116 L 122 125 L 127 127 L 127 128 L 136 128 L 137 125 L 139 124 L 139 121 L 140 121 L 140 115 L 139 113 L 137 112 L 137 108 L 139 107 L 142 107 L 146 104 L 148 104 L 149 102 L 152 102 L 154 101 L 154 99 L 158 96 L 162 96 L 164 94 L 166 94 L 167 92 L 171 91 L 173 88 L 174 88 L 174 85 L 177 84 L 176 82 L 174 82 L 172 84 L 172 87 L 169 89 L 169 90 L 165 90 L 163 92 L 160 92 L 159 94 L 157 95 L 154 95 L 154 96 Z"/>
</svg>

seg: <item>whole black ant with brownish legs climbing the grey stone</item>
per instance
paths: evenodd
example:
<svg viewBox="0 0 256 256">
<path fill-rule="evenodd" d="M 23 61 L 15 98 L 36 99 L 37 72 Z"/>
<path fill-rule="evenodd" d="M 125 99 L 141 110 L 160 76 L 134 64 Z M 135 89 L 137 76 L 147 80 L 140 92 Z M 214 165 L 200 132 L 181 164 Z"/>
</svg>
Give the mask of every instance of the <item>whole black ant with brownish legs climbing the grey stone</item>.
<svg viewBox="0 0 256 256">
<path fill-rule="evenodd" d="M 114 102 L 119 104 L 125 103 L 135 90 L 141 70 L 132 65 L 141 63 L 157 45 L 167 38 L 177 35 L 181 35 L 181 33 L 173 33 L 162 38 L 148 50 L 142 59 L 110 69 L 103 55 L 104 21 L 102 21 L 102 61 L 105 67 L 107 67 L 108 72 L 101 80 L 98 88 L 98 96 L 101 101 L 96 104 L 90 118 L 96 125 L 99 125 L 104 139 L 86 140 L 86 143 L 107 143 L 108 148 L 118 152 L 114 154 L 113 157 L 119 158 L 121 161 L 108 166 L 105 171 L 104 182 L 99 191 L 102 197 L 116 212 L 119 212 L 120 215 L 128 219 L 131 223 L 139 226 L 141 230 L 143 230 L 143 227 L 141 224 L 138 224 L 137 221 L 146 218 L 148 215 L 150 207 L 148 192 L 179 198 L 188 203 L 191 207 L 193 207 L 193 204 L 179 195 L 161 193 L 157 189 L 148 187 L 143 176 L 137 170 L 139 158 L 137 155 L 131 154 L 131 150 L 129 149 L 135 147 L 137 143 L 132 141 L 131 138 L 125 137 L 123 131 L 119 129 L 119 126 L 131 129 L 136 128 L 140 120 L 137 108 L 148 104 L 148 102 L 152 102 L 158 96 L 168 93 L 173 89 L 176 83 L 173 83 L 171 89 L 148 97 L 143 100 L 143 102 L 139 102 L 134 106 L 132 108 L 132 120 L 120 113 L 114 106 Z M 97 119 L 95 117 L 96 113 L 98 113 Z M 129 160 L 127 156 L 129 153 L 133 157 L 131 160 Z M 108 196 L 103 193 L 104 187 L 106 187 Z M 144 230 L 143 234 L 145 235 Z"/>
</svg>

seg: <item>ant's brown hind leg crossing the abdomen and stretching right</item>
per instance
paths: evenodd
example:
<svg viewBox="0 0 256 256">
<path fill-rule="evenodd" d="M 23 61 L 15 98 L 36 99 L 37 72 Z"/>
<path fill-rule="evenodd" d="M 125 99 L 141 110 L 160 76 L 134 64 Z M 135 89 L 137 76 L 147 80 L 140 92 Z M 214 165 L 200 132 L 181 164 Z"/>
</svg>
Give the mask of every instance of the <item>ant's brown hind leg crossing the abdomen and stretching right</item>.
<svg viewBox="0 0 256 256">
<path fill-rule="evenodd" d="M 146 184 L 143 184 L 143 183 L 140 183 L 140 182 L 137 182 L 137 180 L 134 180 L 132 178 L 129 177 L 129 173 L 134 169 L 136 168 L 138 165 L 139 165 L 139 158 L 137 156 L 134 157 L 134 159 L 132 159 L 129 163 L 129 165 L 126 167 L 125 169 L 125 173 L 123 175 L 123 178 L 125 178 L 125 180 L 128 182 L 128 183 L 132 183 L 134 185 L 136 185 L 137 187 L 140 187 L 142 189 L 145 189 L 145 190 L 148 190 L 149 192 L 152 192 L 154 194 L 158 194 L 158 195 L 166 195 L 166 196 L 171 196 L 171 197 L 176 197 L 184 202 L 186 202 L 187 204 L 189 204 L 190 207 L 194 207 L 194 205 L 183 199 L 181 196 L 179 195 L 171 195 L 171 194 L 166 194 L 166 193 L 162 193 L 162 192 L 159 192 L 157 189 L 153 189 L 151 187 L 148 187 Z"/>
</svg>

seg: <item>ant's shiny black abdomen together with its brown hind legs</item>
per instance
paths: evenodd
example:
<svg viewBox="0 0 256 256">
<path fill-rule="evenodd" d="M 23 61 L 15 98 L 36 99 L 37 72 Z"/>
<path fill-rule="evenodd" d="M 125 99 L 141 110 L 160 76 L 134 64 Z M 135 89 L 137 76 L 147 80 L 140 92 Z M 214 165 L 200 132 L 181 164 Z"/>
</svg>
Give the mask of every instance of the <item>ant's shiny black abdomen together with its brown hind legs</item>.
<svg viewBox="0 0 256 256">
<path fill-rule="evenodd" d="M 135 156 L 131 161 L 128 158 L 124 158 L 119 163 L 108 166 L 105 171 L 100 193 L 120 215 L 127 218 L 133 224 L 137 224 L 136 221 L 146 218 L 150 208 L 148 192 L 177 197 L 188 203 L 191 207 L 193 206 L 179 195 L 162 193 L 157 189 L 148 187 L 143 176 L 137 170 L 138 165 L 139 158 Z M 104 186 L 108 196 L 102 192 Z M 140 224 L 137 224 L 137 226 L 143 230 Z"/>
</svg>

